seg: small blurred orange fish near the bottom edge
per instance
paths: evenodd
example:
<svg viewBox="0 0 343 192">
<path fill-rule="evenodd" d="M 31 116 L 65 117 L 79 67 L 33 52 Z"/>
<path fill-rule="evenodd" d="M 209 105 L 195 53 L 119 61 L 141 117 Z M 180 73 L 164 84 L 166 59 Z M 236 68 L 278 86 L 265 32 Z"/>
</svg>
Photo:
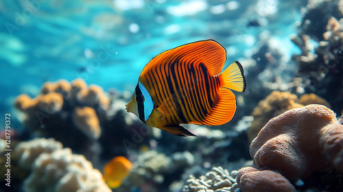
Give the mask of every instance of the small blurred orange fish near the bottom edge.
<svg viewBox="0 0 343 192">
<path fill-rule="evenodd" d="M 110 188 L 117 188 L 128 177 L 132 163 L 123 156 L 116 156 L 104 166 L 104 180 Z"/>
</svg>

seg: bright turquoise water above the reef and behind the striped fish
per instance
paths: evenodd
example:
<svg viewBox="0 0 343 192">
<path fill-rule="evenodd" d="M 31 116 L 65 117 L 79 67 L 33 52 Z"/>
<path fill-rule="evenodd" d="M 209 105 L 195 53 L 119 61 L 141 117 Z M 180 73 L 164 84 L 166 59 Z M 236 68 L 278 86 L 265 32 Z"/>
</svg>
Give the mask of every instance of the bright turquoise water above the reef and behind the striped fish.
<svg viewBox="0 0 343 192">
<path fill-rule="evenodd" d="M 150 59 L 196 40 L 220 42 L 229 64 L 249 58 L 267 32 L 290 57 L 299 51 L 289 40 L 300 20 L 297 2 L 1 1 L 0 112 L 46 81 L 82 77 L 105 91 L 132 91 Z M 255 20 L 261 26 L 247 26 Z"/>
</svg>

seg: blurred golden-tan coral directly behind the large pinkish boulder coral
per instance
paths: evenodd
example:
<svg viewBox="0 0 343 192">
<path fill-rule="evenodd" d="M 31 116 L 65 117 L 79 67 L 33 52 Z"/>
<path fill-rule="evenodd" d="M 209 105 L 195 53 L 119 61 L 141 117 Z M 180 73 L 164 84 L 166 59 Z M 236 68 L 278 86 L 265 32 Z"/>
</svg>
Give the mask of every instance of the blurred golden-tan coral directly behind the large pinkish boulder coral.
<svg viewBox="0 0 343 192">
<path fill-rule="evenodd" d="M 265 97 L 262 101 L 259 101 L 258 106 L 252 111 L 254 120 L 251 122 L 248 128 L 248 139 L 251 142 L 261 128 L 273 117 L 280 115 L 281 113 L 290 110 L 292 108 L 300 108 L 309 104 L 321 104 L 330 107 L 330 104 L 314 94 L 305 94 L 298 99 L 298 97 L 289 92 L 273 91 Z"/>
</svg>

